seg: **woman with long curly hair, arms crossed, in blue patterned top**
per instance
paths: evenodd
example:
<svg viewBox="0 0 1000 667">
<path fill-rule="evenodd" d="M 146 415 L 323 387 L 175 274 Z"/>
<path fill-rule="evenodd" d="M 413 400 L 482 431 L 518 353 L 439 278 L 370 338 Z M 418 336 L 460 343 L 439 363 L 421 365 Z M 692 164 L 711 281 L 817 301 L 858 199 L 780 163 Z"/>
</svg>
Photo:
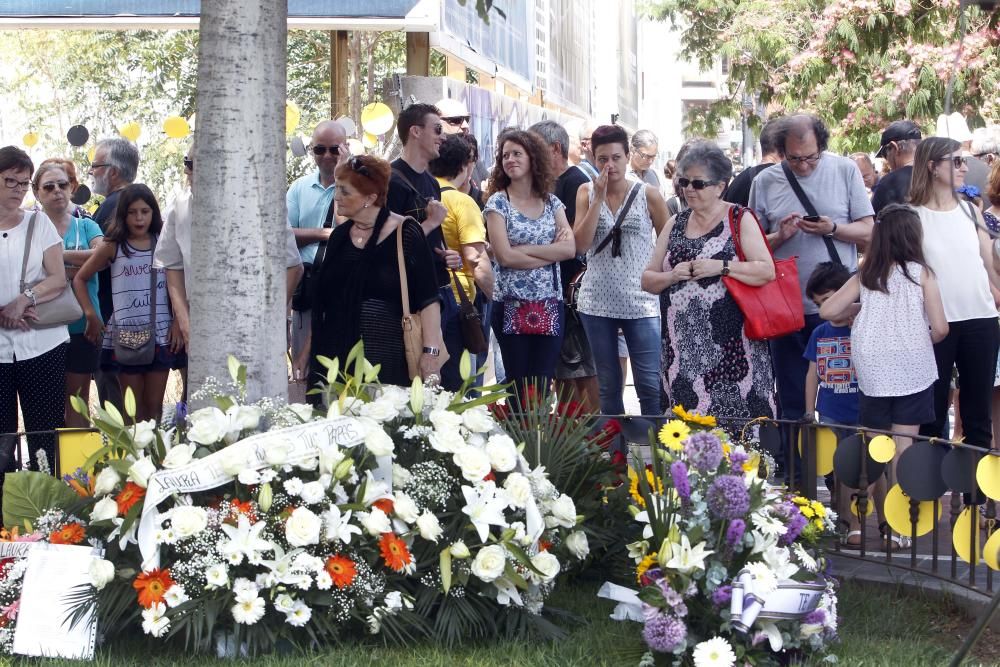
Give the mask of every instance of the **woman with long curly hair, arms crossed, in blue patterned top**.
<svg viewBox="0 0 1000 667">
<path fill-rule="evenodd" d="M 524 394 L 544 390 L 562 345 L 563 296 L 559 262 L 576 254 L 562 202 L 550 194 L 547 148 L 537 136 L 500 136 L 484 215 L 498 264 L 493 331 L 507 380 Z"/>
</svg>

